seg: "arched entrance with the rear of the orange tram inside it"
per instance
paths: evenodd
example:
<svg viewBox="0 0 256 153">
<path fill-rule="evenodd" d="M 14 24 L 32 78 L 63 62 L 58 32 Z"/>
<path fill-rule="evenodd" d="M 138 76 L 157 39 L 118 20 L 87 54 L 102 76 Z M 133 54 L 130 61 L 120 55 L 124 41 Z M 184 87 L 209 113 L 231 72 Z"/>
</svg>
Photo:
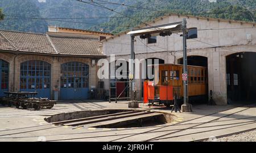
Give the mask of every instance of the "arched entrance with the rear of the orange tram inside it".
<svg viewBox="0 0 256 153">
<path fill-rule="evenodd" d="M 188 56 L 188 65 L 191 66 L 203 66 L 207 67 L 205 70 L 201 70 L 197 67 L 188 71 L 188 83 L 191 84 L 191 90 L 200 91 L 199 93 L 206 93 L 205 95 L 189 96 L 189 103 L 192 104 L 205 104 L 208 103 L 208 58 L 204 56 Z M 178 64 L 183 65 L 183 58 L 177 60 Z"/>
</svg>

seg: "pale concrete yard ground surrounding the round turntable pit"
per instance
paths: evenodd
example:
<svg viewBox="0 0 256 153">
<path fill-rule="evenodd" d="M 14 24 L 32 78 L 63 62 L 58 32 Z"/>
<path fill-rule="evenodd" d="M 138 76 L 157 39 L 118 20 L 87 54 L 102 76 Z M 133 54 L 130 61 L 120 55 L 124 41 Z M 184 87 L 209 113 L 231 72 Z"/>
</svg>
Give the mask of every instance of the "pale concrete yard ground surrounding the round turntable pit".
<svg viewBox="0 0 256 153">
<path fill-rule="evenodd" d="M 149 108 L 143 103 L 139 107 L 171 113 L 170 108 Z M 128 101 L 59 101 L 52 109 L 40 111 L 1 106 L 0 141 L 205 141 L 256 128 L 256 107 L 253 104 L 194 105 L 191 113 L 173 113 L 175 121 L 171 124 L 141 128 L 74 129 L 44 121 L 53 114 L 104 109 L 128 109 Z"/>
</svg>

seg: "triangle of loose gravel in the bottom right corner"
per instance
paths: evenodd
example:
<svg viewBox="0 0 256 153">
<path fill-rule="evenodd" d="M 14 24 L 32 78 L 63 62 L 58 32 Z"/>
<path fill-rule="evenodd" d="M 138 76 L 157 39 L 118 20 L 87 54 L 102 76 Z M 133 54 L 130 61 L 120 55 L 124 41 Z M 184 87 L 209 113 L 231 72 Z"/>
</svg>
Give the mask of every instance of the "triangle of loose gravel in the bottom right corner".
<svg viewBox="0 0 256 153">
<path fill-rule="evenodd" d="M 256 130 L 223 138 L 210 138 L 206 142 L 256 142 Z"/>
</svg>

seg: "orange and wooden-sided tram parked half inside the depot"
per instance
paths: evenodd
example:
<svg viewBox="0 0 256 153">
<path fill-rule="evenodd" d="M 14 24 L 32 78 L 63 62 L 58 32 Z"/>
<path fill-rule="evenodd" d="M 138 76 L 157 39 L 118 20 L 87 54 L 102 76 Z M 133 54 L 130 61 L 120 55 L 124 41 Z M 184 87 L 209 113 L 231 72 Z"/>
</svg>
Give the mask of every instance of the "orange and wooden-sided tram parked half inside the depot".
<svg viewBox="0 0 256 153">
<path fill-rule="evenodd" d="M 154 70 L 154 81 L 144 82 L 143 101 L 149 103 L 164 104 L 167 107 L 174 104 L 174 98 L 178 104 L 183 102 L 183 65 L 160 64 L 159 71 Z M 207 67 L 188 66 L 188 96 L 189 103 L 208 100 Z M 158 81 L 156 81 L 158 80 Z M 175 96 L 175 97 L 174 97 Z"/>
</svg>

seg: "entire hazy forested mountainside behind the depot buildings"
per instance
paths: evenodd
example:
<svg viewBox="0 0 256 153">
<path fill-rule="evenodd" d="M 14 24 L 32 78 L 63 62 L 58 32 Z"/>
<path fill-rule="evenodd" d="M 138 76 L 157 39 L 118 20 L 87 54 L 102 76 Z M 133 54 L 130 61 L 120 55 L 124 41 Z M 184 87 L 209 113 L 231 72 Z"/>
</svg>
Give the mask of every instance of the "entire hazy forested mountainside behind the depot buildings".
<svg viewBox="0 0 256 153">
<path fill-rule="evenodd" d="M 76 0 L 39 1 L 1 0 L 0 8 L 5 19 L 0 21 L 0 28 L 46 32 L 47 25 L 56 25 L 118 33 L 166 13 L 249 21 L 254 18 L 253 10 L 256 9 L 255 0 L 217 0 L 217 3 L 208 0 L 83 0 L 86 3 Z M 251 10 L 251 15 L 247 10 Z"/>
</svg>

